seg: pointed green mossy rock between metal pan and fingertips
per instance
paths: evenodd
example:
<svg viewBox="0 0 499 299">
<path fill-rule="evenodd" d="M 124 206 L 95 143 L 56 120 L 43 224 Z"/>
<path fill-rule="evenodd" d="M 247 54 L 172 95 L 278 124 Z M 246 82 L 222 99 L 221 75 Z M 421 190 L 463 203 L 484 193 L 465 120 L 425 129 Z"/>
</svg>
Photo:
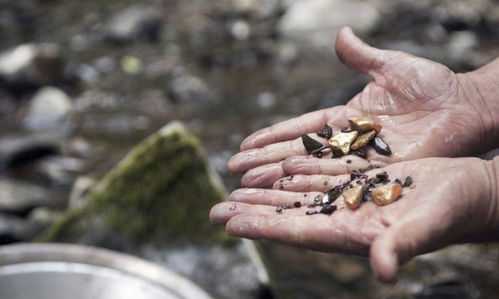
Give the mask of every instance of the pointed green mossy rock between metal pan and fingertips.
<svg viewBox="0 0 499 299">
<path fill-rule="evenodd" d="M 104 223 L 138 244 L 226 243 L 208 220 L 211 206 L 226 197 L 198 139 L 180 122 L 146 138 L 89 192 L 88 204 L 69 210 L 39 240 L 82 242 Z M 102 226 L 102 225 L 100 225 Z M 94 242 L 85 242 L 94 243 Z"/>
</svg>

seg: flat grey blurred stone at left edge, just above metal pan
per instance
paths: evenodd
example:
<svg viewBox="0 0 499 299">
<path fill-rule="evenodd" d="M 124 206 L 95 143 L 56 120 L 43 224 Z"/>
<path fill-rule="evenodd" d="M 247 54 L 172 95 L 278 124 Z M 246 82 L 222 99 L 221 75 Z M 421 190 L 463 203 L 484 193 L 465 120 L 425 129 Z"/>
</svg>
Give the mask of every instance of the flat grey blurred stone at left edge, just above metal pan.
<svg viewBox="0 0 499 299">
<path fill-rule="evenodd" d="M 56 207 L 60 204 L 59 199 L 40 186 L 0 179 L 0 211 L 24 214 L 35 207 Z"/>
</svg>

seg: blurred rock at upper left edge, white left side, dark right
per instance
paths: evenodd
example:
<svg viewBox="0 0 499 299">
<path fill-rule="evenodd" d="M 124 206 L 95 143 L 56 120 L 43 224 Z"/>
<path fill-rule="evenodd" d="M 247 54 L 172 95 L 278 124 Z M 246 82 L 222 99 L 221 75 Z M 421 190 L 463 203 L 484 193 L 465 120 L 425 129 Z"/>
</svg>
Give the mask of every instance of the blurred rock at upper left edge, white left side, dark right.
<svg viewBox="0 0 499 299">
<path fill-rule="evenodd" d="M 57 44 L 23 44 L 0 54 L 0 82 L 12 89 L 55 84 L 62 74 Z"/>
</svg>

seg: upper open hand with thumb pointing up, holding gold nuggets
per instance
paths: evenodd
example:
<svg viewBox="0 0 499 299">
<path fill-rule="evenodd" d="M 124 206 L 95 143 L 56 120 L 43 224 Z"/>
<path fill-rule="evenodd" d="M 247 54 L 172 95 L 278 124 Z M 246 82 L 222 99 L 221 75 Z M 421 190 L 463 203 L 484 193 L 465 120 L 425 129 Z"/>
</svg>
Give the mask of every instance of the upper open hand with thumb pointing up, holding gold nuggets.
<svg viewBox="0 0 499 299">
<path fill-rule="evenodd" d="M 477 98 L 469 75 L 407 53 L 370 47 L 349 28 L 338 34 L 336 52 L 347 66 L 369 74 L 373 81 L 347 105 L 304 114 L 247 137 L 242 152 L 228 163 L 231 172 L 246 172 L 244 186 L 269 186 L 286 174 L 337 175 L 370 164 L 464 156 L 484 149 L 492 116 Z M 352 156 L 307 158 L 302 134 L 314 133 L 325 124 L 336 134 L 348 125 L 348 118 L 359 115 L 383 126 L 381 137 L 392 148 L 391 156 L 371 150 L 369 161 Z M 352 163 L 347 165 L 347 160 Z"/>
</svg>

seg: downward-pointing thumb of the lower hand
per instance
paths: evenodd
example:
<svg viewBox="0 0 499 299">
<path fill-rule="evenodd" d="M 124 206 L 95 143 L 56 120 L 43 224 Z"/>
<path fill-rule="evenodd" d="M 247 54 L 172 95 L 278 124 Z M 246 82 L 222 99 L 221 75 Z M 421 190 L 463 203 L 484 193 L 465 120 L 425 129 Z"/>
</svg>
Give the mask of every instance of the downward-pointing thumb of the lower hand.
<svg viewBox="0 0 499 299">
<path fill-rule="evenodd" d="M 433 209 L 405 216 L 376 238 L 371 247 L 371 266 L 381 282 L 393 283 L 399 265 L 410 258 L 440 248 L 449 234 L 448 211 Z M 423 216 L 424 215 L 424 216 Z"/>
</svg>

